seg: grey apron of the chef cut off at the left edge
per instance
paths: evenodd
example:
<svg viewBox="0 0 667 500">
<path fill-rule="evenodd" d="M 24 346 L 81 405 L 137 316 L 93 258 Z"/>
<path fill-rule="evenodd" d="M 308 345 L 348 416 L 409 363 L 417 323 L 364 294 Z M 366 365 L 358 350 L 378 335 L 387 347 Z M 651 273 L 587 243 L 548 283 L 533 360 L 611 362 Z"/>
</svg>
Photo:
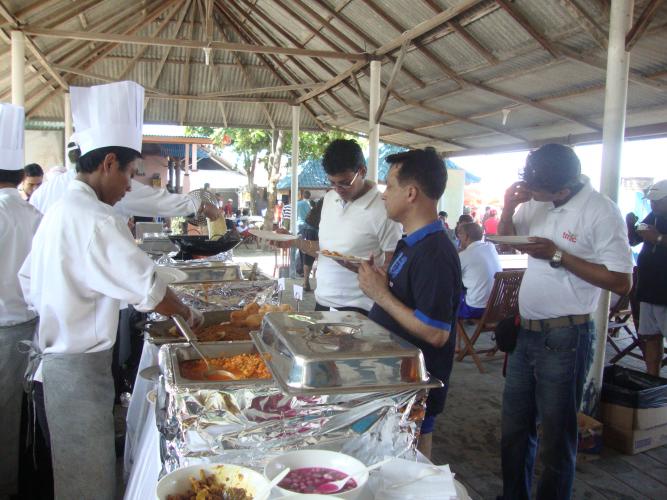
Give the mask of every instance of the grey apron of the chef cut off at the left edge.
<svg viewBox="0 0 667 500">
<path fill-rule="evenodd" d="M 37 318 L 0 326 L 0 498 L 18 492 L 19 434 L 23 402 L 23 372 L 28 356 L 19 343 L 35 335 Z"/>
</svg>

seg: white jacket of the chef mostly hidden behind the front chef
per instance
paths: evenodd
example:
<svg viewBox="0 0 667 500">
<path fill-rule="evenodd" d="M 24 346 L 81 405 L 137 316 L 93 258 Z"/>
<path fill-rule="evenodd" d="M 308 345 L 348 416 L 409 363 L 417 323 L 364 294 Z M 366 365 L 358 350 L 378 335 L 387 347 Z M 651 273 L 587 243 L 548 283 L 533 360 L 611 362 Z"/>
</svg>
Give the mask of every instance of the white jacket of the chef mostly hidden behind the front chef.
<svg viewBox="0 0 667 500">
<path fill-rule="evenodd" d="M 54 175 L 44 182 L 30 197 L 30 203 L 43 214 L 67 191 L 67 186 L 76 177 L 76 171 Z M 199 202 L 186 194 L 170 193 L 166 189 L 155 189 L 132 179 L 132 190 L 114 205 L 114 210 L 125 218 L 178 217 L 199 210 Z"/>
</svg>

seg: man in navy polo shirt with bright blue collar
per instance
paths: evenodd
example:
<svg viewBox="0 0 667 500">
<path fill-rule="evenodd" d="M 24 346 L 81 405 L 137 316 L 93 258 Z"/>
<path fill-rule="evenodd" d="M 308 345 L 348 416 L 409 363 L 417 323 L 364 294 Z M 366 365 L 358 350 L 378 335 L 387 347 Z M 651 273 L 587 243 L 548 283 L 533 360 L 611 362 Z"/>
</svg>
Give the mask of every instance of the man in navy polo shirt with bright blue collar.
<svg viewBox="0 0 667 500">
<path fill-rule="evenodd" d="M 432 149 L 417 149 L 390 155 L 387 162 L 382 199 L 387 216 L 400 222 L 407 236 L 396 245 L 386 272 L 372 262 L 361 265 L 359 285 L 375 302 L 368 317 L 421 349 L 428 371 L 445 384 L 426 401 L 419 450 L 430 457 L 454 359 L 461 266 L 438 220 L 437 203 L 447 184 L 443 161 Z"/>
</svg>

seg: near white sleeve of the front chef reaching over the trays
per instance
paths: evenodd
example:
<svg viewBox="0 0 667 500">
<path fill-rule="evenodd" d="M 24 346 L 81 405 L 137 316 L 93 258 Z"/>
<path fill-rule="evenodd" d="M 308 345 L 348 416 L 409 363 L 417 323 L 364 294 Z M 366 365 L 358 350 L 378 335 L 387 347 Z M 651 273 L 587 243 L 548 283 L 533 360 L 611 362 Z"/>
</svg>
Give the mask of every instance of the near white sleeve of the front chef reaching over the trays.
<svg viewBox="0 0 667 500">
<path fill-rule="evenodd" d="M 153 261 L 137 248 L 127 226 L 116 217 L 96 224 L 84 261 L 93 290 L 139 311 L 152 311 L 167 293 Z"/>
</svg>

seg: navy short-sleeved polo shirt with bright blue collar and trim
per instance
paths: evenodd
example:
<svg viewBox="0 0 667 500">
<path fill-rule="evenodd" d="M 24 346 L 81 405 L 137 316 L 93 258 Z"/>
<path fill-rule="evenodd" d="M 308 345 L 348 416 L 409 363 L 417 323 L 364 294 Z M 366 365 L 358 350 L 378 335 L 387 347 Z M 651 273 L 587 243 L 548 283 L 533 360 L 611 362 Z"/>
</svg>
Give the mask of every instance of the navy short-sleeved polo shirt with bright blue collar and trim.
<svg viewBox="0 0 667 500">
<path fill-rule="evenodd" d="M 454 245 L 440 221 L 435 221 L 403 238 L 388 267 L 389 286 L 394 296 L 423 323 L 449 330 L 443 347 L 434 347 L 405 330 L 384 309 L 375 304 L 368 317 L 421 349 L 426 369 L 445 387 L 429 392 L 427 415 L 441 413 L 452 371 L 457 307 L 461 297 L 461 266 Z"/>
</svg>

